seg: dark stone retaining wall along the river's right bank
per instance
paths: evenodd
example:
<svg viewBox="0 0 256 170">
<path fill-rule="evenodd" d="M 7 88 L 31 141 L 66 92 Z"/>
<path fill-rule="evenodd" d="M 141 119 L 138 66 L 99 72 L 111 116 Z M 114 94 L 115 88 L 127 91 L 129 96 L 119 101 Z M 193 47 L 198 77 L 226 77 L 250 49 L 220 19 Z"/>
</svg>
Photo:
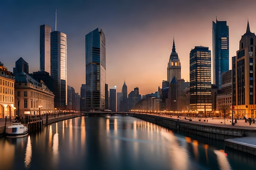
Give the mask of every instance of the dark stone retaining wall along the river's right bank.
<svg viewBox="0 0 256 170">
<path fill-rule="evenodd" d="M 171 119 L 168 117 L 160 117 L 155 115 L 130 115 L 169 128 L 171 130 L 182 130 L 184 132 L 189 132 L 212 139 L 224 140 L 237 137 L 256 136 L 256 130 L 246 128 L 240 129 L 236 126 L 225 127 L 224 125 L 208 124 L 206 122 L 195 122 L 182 119 Z"/>
</svg>

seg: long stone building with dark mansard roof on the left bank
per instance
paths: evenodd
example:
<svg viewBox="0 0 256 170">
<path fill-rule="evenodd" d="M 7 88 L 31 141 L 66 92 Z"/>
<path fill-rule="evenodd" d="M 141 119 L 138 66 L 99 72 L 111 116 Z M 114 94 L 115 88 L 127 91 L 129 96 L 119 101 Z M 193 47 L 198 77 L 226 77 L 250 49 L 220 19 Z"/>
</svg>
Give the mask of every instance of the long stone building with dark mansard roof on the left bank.
<svg viewBox="0 0 256 170">
<path fill-rule="evenodd" d="M 15 107 L 20 117 L 54 112 L 54 93 L 43 81 L 21 72 L 15 77 Z"/>
</svg>

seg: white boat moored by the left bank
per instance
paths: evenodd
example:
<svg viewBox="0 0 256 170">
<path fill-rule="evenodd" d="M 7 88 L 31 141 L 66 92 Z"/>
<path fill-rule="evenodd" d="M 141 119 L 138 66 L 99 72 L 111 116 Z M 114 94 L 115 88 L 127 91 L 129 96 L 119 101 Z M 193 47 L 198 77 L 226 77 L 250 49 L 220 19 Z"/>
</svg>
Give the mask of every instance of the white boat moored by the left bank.
<svg viewBox="0 0 256 170">
<path fill-rule="evenodd" d="M 11 126 L 8 126 L 5 130 L 5 136 L 16 138 L 16 137 L 25 137 L 29 134 L 29 131 L 26 126 L 20 122 L 13 121 Z"/>
</svg>

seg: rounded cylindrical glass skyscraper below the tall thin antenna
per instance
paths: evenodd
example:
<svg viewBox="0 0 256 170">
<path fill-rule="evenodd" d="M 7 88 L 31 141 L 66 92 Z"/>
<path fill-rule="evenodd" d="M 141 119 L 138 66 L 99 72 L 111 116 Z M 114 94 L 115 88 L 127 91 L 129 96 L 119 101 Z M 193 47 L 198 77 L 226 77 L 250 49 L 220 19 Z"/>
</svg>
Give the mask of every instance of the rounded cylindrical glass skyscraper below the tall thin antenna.
<svg viewBox="0 0 256 170">
<path fill-rule="evenodd" d="M 54 79 L 55 108 L 66 109 L 67 35 L 59 31 L 51 33 L 51 76 Z"/>
</svg>

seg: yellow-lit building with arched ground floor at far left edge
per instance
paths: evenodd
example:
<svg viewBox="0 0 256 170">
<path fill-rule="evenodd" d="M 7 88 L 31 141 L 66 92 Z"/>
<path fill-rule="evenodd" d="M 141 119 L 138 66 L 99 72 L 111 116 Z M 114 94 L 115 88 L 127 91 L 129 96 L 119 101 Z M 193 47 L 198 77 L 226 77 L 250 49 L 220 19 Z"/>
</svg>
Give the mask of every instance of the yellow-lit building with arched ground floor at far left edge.
<svg viewBox="0 0 256 170">
<path fill-rule="evenodd" d="M 16 116 L 16 108 L 14 107 L 14 83 L 15 77 L 0 62 L 0 118 Z"/>
</svg>

